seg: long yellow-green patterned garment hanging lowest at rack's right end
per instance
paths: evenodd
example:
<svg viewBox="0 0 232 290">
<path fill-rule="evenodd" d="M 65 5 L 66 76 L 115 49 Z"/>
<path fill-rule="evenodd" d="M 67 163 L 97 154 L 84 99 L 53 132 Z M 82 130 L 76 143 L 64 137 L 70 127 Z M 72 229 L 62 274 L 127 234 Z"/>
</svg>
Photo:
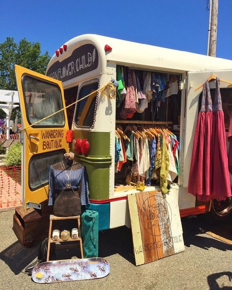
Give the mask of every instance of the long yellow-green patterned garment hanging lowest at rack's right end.
<svg viewBox="0 0 232 290">
<path fill-rule="evenodd" d="M 167 189 L 167 174 L 169 169 L 169 157 L 166 145 L 165 136 L 162 135 L 162 161 L 161 161 L 161 172 L 160 172 L 160 185 L 161 192 L 167 193 L 169 190 Z"/>
</svg>

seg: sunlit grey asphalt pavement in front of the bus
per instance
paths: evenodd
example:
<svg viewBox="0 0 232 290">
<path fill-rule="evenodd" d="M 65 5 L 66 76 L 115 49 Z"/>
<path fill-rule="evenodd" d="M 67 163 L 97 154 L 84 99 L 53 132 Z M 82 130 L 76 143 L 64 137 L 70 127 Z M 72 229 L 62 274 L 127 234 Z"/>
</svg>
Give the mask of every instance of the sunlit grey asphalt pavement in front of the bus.
<svg viewBox="0 0 232 290">
<path fill-rule="evenodd" d="M 228 290 L 232 289 L 232 245 L 204 233 L 197 217 L 183 218 L 185 252 L 135 266 L 131 230 L 126 227 L 99 233 L 99 257 L 110 263 L 102 279 L 37 284 L 24 273 L 36 260 L 38 247 L 25 248 L 15 236 L 14 211 L 0 212 L 0 289 L 14 290 Z M 224 225 L 232 233 L 231 225 Z M 232 236 L 232 235 L 231 235 Z M 70 250 L 71 251 L 71 250 Z M 63 253 L 68 256 L 72 253 Z"/>
</svg>

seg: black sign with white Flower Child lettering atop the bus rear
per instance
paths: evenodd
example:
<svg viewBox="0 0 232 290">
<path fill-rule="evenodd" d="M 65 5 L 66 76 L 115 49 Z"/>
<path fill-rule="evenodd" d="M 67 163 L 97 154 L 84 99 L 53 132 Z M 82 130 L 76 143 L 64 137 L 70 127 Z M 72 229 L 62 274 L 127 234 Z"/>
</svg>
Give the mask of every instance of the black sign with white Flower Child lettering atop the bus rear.
<svg viewBox="0 0 232 290">
<path fill-rule="evenodd" d="M 73 50 L 72 54 L 59 62 L 56 61 L 46 75 L 63 82 L 95 70 L 98 66 L 98 52 L 93 44 L 85 44 Z"/>
</svg>

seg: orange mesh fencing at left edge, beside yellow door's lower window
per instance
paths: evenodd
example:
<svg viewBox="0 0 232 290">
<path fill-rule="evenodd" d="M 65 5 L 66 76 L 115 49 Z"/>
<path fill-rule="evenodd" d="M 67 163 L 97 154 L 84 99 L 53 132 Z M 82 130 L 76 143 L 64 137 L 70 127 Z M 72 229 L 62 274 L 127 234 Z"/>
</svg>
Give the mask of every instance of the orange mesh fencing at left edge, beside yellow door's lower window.
<svg viewBox="0 0 232 290">
<path fill-rule="evenodd" d="M 21 205 L 21 190 L 21 166 L 1 166 L 0 209 Z"/>
</svg>

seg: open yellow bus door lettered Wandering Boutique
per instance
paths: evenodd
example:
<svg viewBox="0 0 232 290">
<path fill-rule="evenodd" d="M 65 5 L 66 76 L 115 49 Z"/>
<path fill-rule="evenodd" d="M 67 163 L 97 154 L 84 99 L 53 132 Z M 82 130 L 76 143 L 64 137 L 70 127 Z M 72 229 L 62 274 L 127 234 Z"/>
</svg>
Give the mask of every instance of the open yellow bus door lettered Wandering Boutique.
<svg viewBox="0 0 232 290">
<path fill-rule="evenodd" d="M 64 108 L 62 82 L 40 73 L 15 66 L 22 113 L 22 201 L 24 208 L 41 208 L 48 198 L 50 165 L 63 159 L 69 150 L 66 110 L 37 124 L 36 121 Z M 34 125 L 33 125 L 34 124 Z"/>
</svg>

